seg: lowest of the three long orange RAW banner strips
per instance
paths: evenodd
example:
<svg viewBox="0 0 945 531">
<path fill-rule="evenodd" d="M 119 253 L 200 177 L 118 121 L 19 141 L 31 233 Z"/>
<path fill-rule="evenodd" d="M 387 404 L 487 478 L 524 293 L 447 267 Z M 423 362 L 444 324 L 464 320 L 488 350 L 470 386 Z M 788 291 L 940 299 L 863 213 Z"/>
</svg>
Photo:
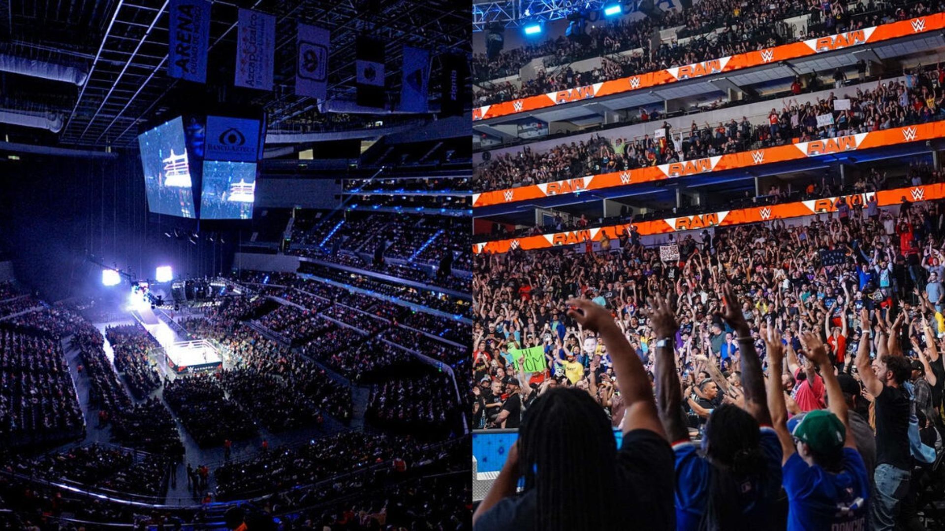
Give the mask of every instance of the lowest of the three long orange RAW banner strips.
<svg viewBox="0 0 945 531">
<path fill-rule="evenodd" d="M 903 197 L 912 202 L 930 201 L 945 198 L 945 183 L 910 186 L 908 188 L 897 188 L 895 190 L 882 190 L 871 194 L 854 194 L 846 196 L 846 201 L 847 204 L 852 204 L 855 201 L 866 204 L 867 199 L 874 194 L 877 204 L 881 207 L 900 204 L 902 203 Z M 822 197 L 809 201 L 782 203 L 765 207 L 750 207 L 710 214 L 669 217 L 632 224 L 623 223 L 599 229 L 584 229 L 580 231 L 564 231 L 555 232 L 553 234 L 524 236 L 516 238 L 515 240 L 498 240 L 473 244 L 472 252 L 508 252 L 508 250 L 512 248 L 513 241 L 515 242 L 515 248 L 522 248 L 524 250 L 553 248 L 574 244 L 586 245 L 588 242 L 599 242 L 605 234 L 607 234 L 610 240 L 616 240 L 621 234 L 626 234 L 631 226 L 636 227 L 641 235 L 649 235 L 676 231 L 700 231 L 711 227 L 728 227 L 744 223 L 759 223 L 771 219 L 787 219 L 804 215 L 823 214 L 836 212 L 837 198 L 838 197 Z"/>
</svg>

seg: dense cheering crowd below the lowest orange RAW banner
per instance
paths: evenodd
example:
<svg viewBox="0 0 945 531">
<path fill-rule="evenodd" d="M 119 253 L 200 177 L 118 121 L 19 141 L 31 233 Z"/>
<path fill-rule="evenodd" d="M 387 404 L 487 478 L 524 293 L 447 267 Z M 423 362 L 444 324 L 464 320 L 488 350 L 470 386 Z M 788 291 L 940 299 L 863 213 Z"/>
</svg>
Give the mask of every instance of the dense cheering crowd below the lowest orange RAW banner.
<svg viewBox="0 0 945 531">
<path fill-rule="evenodd" d="M 627 433 L 640 421 L 633 401 L 652 400 L 655 379 L 666 437 L 717 437 L 710 430 L 713 412 L 726 404 L 760 411 L 752 404 L 765 403 L 758 389 L 767 371 L 768 403 L 777 405 L 783 395 L 783 414 L 772 406 L 771 416 L 784 449 L 790 513 L 797 515 L 788 522 L 802 518 L 796 504 L 805 500 L 790 490 L 789 475 L 800 472 L 789 470 L 795 447 L 783 422 L 829 405 L 852 430 L 848 447 L 865 463 L 862 477 L 870 480 L 857 489 L 868 498 L 873 522 L 915 525 L 942 485 L 931 464 L 943 450 L 945 202 L 903 201 L 871 213 L 842 202 L 836 214 L 801 225 L 777 221 L 686 235 L 678 240 L 679 261 L 664 262 L 659 249 L 624 238 L 603 252 L 558 248 L 477 257 L 473 426 L 519 427 L 522 411 L 527 419 L 542 396 L 574 388 Z M 532 347 L 541 348 L 545 364 L 525 372 L 510 350 Z M 666 361 L 657 363 L 661 352 L 668 369 Z M 620 373 L 628 358 L 639 361 L 632 379 Z M 831 394 L 832 385 L 842 393 Z M 849 405 L 849 423 L 847 406 L 838 410 L 842 403 Z M 667 463 L 664 472 L 672 477 L 672 460 Z M 781 465 L 779 454 L 776 470 Z M 841 467 L 826 454 L 808 465 Z M 680 481 L 677 488 L 692 485 L 697 482 Z M 664 503 L 671 507 L 672 496 Z M 855 518 L 865 518 L 862 507 Z"/>
</svg>

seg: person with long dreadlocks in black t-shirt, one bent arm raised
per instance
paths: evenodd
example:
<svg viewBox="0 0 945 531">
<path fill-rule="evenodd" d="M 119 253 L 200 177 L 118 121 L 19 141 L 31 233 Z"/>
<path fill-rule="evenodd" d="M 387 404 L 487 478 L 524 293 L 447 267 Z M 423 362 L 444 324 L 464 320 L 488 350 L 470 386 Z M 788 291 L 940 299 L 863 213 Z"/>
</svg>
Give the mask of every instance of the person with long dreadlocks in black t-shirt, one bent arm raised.
<svg viewBox="0 0 945 531">
<path fill-rule="evenodd" d="M 673 453 L 643 363 L 603 306 L 570 304 L 568 315 L 600 334 L 610 353 L 626 404 L 621 448 L 587 391 L 548 389 L 525 411 L 518 441 L 472 515 L 473 529 L 674 529 Z"/>
</svg>

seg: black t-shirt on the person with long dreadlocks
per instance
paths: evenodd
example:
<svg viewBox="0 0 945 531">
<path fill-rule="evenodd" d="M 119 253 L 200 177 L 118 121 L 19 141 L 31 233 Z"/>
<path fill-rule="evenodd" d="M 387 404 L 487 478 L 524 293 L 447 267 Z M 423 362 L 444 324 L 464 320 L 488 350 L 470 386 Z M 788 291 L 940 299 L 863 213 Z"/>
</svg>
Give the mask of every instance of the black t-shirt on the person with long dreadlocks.
<svg viewBox="0 0 945 531">
<path fill-rule="evenodd" d="M 565 458 L 564 455 L 561 456 Z M 580 459 L 580 455 L 567 456 Z M 650 430 L 633 430 L 617 451 L 617 492 L 613 510 L 634 529 L 676 529 L 675 456 L 666 440 Z M 475 523 L 473 531 L 522 531 L 535 527 L 536 489 L 500 501 Z M 581 510 L 581 507 L 567 507 Z"/>
</svg>

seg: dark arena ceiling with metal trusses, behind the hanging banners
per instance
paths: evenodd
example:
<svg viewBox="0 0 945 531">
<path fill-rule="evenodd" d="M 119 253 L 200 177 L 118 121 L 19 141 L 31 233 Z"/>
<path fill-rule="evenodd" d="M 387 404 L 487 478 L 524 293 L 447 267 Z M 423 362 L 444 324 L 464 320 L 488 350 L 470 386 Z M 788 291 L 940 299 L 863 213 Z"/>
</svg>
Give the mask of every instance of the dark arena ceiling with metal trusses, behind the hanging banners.
<svg viewBox="0 0 945 531">
<path fill-rule="evenodd" d="M 144 125 L 208 103 L 262 107 L 270 130 L 345 128 L 344 117 L 329 119 L 318 112 L 314 99 L 294 94 L 297 22 L 331 29 L 331 99 L 354 97 L 354 41 L 359 34 L 386 41 L 387 91 L 392 94 L 400 87 L 403 44 L 434 53 L 470 48 L 469 11 L 449 0 L 214 1 L 207 84 L 200 85 L 166 76 L 167 7 L 167 0 L 0 0 L 0 53 L 74 65 L 88 73 L 77 85 L 0 72 L 0 113 L 25 111 L 60 119 L 52 128 L 57 132 L 0 124 L 0 133 L 11 142 L 129 146 Z M 233 87 L 238 8 L 277 16 L 272 92 Z M 438 66 L 434 59 L 434 98 Z M 363 121 L 363 116 L 355 118 L 352 128 Z M 385 119 L 396 123 L 404 118 Z"/>
</svg>

